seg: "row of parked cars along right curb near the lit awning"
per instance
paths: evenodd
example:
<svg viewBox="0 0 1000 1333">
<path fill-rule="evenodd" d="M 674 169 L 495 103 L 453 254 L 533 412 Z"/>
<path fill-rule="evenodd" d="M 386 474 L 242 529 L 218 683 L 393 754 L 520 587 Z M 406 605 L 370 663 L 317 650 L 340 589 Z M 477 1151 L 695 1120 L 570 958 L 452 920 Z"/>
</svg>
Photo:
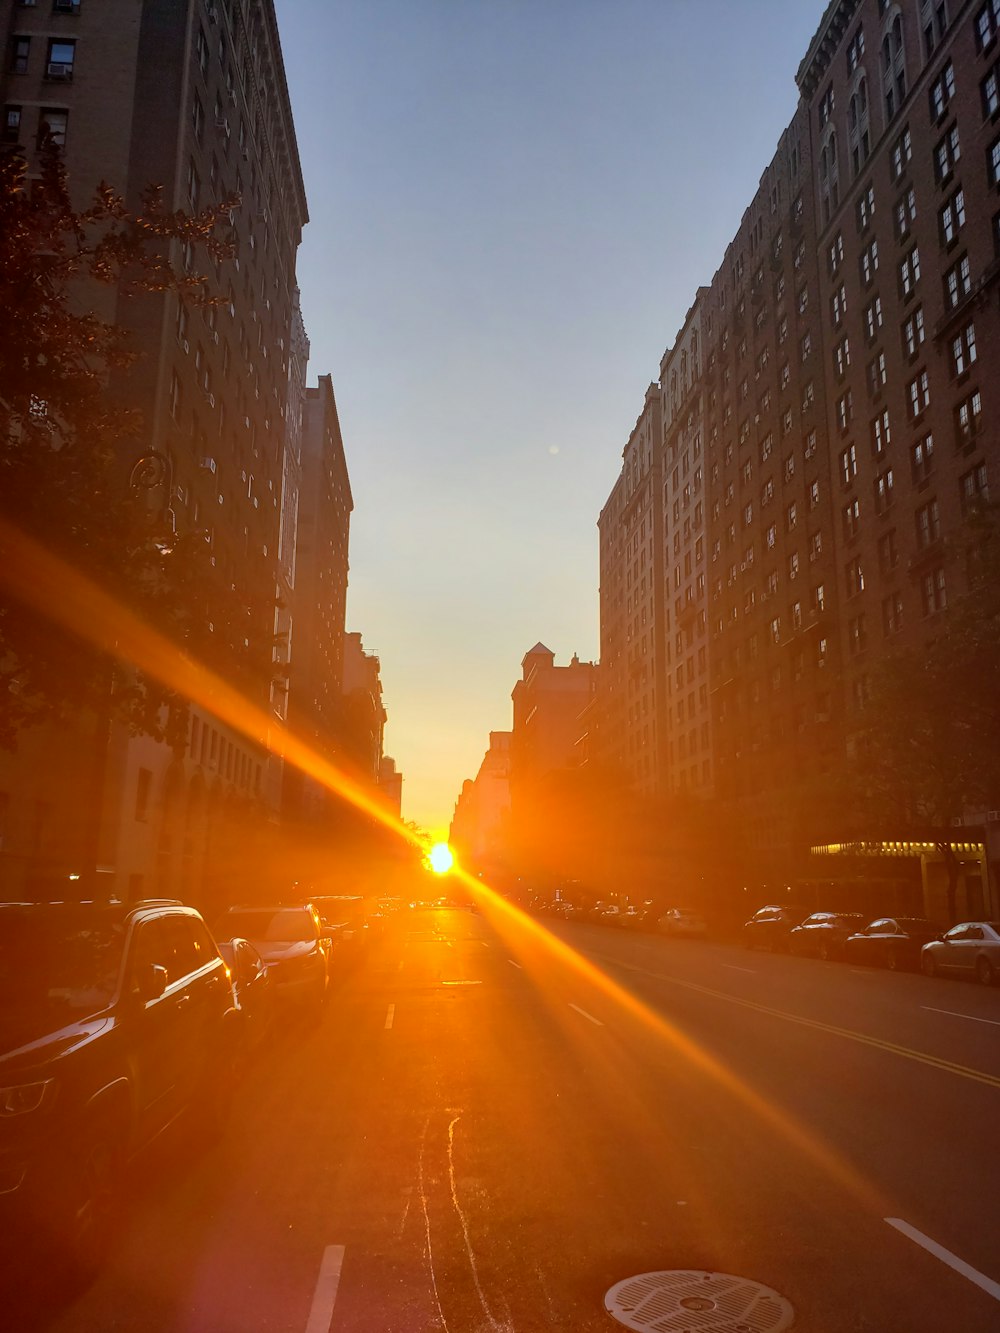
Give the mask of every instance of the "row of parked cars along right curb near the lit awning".
<svg viewBox="0 0 1000 1333">
<path fill-rule="evenodd" d="M 960 921 L 943 930 L 925 917 L 892 916 L 869 920 L 860 912 L 804 912 L 769 905 L 743 928 L 747 948 L 775 949 L 819 958 L 899 970 L 920 968 L 968 976 L 992 985 L 1000 977 L 1000 922 Z"/>
</svg>

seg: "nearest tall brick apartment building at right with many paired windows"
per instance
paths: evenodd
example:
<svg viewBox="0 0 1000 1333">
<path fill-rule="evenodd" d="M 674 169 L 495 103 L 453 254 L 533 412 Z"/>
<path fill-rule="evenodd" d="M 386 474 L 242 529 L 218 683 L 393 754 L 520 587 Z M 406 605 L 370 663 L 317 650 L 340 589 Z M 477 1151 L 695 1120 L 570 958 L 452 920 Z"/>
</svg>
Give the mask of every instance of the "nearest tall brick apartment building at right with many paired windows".
<svg viewBox="0 0 1000 1333">
<path fill-rule="evenodd" d="M 967 588 L 997 487 L 1000 5 L 841 0 L 797 83 L 820 309 L 848 738 L 871 670 Z M 992 373 L 991 373 L 992 371 Z"/>
</svg>

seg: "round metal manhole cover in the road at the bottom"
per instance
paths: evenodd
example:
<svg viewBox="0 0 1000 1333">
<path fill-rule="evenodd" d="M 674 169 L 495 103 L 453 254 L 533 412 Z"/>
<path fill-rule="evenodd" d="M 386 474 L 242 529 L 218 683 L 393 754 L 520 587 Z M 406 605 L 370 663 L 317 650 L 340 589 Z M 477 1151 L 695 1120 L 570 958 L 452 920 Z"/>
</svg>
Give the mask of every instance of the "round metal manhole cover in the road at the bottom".
<svg viewBox="0 0 1000 1333">
<path fill-rule="evenodd" d="M 795 1321 L 789 1302 L 769 1286 L 691 1269 L 627 1277 L 604 1308 L 639 1333 L 783 1333 Z"/>
</svg>

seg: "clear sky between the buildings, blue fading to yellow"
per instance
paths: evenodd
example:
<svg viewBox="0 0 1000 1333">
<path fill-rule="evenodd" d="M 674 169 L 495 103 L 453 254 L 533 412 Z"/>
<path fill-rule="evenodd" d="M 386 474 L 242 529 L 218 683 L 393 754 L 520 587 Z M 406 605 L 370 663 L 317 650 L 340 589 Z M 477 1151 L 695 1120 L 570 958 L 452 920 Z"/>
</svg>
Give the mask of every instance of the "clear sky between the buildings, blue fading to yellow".
<svg viewBox="0 0 1000 1333">
<path fill-rule="evenodd" d="M 597 519 L 795 111 L 824 0 L 276 0 L 309 383 L 403 816 L 447 832 L 541 640 L 599 657 Z"/>
</svg>

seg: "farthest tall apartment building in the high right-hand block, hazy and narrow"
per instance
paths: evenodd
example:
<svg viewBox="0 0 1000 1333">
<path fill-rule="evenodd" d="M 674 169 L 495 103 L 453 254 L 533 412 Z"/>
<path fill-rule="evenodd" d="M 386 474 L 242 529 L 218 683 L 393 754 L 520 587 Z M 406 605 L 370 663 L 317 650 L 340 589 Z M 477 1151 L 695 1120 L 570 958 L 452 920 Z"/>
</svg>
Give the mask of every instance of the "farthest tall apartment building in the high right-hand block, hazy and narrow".
<svg viewBox="0 0 1000 1333">
<path fill-rule="evenodd" d="M 621 455 L 600 533 L 599 757 L 655 794 L 663 777 L 661 405 L 651 384 Z"/>
</svg>

